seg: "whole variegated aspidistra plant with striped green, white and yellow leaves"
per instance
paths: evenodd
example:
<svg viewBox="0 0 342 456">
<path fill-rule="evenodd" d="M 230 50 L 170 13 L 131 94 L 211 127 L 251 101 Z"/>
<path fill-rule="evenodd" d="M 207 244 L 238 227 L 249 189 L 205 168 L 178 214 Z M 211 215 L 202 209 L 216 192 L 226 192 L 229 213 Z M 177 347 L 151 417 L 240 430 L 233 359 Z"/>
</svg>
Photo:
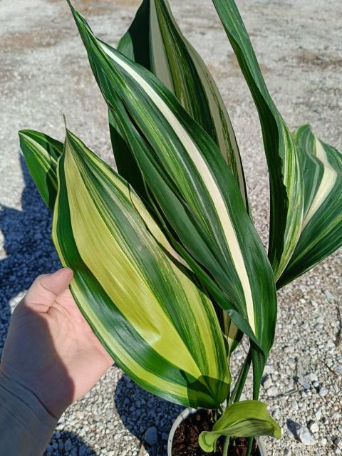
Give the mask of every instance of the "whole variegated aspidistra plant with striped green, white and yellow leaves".
<svg viewBox="0 0 342 456">
<path fill-rule="evenodd" d="M 143 0 L 113 48 L 71 7 L 108 105 L 118 172 L 67 130 L 19 133 L 71 292 L 138 385 L 219 419 L 199 445 L 272 435 L 258 401 L 276 289 L 342 244 L 342 157 L 308 125 L 291 133 L 266 88 L 234 0 L 212 0 L 259 112 L 269 167 L 269 252 L 254 228 L 219 90 L 167 0 Z M 250 350 L 232 388 L 229 358 Z M 239 402 L 253 368 L 253 398 Z M 250 451 L 249 445 L 249 451 Z"/>
</svg>

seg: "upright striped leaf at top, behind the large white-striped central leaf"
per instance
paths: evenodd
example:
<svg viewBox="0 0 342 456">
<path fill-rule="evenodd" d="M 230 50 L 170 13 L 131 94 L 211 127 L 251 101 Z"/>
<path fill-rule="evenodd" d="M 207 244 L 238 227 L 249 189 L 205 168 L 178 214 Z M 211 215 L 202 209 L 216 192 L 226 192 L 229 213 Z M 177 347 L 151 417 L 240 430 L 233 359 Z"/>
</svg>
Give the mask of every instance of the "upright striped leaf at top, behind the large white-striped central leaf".
<svg viewBox="0 0 342 456">
<path fill-rule="evenodd" d="M 204 61 L 180 31 L 167 0 L 142 1 L 133 23 L 118 43 L 118 51 L 152 71 L 212 137 L 237 179 L 248 207 L 242 162 L 227 109 Z M 115 153 L 119 155 L 119 172 L 121 168 L 130 172 L 127 155 L 123 157 L 122 150 Z M 131 177 L 134 181 L 136 175 Z"/>
</svg>

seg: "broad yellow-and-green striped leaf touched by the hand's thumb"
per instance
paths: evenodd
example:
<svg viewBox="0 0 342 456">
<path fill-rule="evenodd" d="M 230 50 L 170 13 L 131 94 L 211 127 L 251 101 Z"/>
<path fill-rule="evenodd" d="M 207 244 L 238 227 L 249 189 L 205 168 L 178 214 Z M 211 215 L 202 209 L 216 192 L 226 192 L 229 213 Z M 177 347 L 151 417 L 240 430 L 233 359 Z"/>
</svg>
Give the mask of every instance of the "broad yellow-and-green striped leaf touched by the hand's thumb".
<svg viewBox="0 0 342 456">
<path fill-rule="evenodd" d="M 53 242 L 83 315 L 136 383 L 182 405 L 222 403 L 230 375 L 212 303 L 138 195 L 70 132 Z"/>
</svg>

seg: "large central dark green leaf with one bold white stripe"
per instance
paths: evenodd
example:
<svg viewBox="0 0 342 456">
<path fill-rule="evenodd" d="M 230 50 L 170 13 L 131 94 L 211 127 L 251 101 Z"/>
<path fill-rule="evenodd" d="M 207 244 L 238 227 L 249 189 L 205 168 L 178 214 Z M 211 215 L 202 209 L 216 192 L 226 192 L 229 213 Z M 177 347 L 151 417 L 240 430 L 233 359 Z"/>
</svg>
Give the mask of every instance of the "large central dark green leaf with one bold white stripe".
<svg viewBox="0 0 342 456">
<path fill-rule="evenodd" d="M 227 162 L 170 90 L 99 41 L 81 14 L 72 11 L 156 212 L 177 238 L 175 248 L 266 356 L 276 321 L 274 275 Z M 259 367 L 262 371 L 262 363 Z"/>
</svg>

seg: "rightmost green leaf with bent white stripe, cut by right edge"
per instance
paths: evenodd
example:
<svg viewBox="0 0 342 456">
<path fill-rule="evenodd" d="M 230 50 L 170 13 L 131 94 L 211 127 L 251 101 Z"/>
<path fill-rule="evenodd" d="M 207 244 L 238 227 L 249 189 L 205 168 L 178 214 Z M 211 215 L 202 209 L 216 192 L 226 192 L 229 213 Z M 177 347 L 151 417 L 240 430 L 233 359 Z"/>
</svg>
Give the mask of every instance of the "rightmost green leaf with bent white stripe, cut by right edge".
<svg viewBox="0 0 342 456">
<path fill-rule="evenodd" d="M 342 155 L 319 140 L 309 125 L 294 133 L 304 175 L 304 219 L 281 287 L 311 269 L 342 244 Z"/>
</svg>

